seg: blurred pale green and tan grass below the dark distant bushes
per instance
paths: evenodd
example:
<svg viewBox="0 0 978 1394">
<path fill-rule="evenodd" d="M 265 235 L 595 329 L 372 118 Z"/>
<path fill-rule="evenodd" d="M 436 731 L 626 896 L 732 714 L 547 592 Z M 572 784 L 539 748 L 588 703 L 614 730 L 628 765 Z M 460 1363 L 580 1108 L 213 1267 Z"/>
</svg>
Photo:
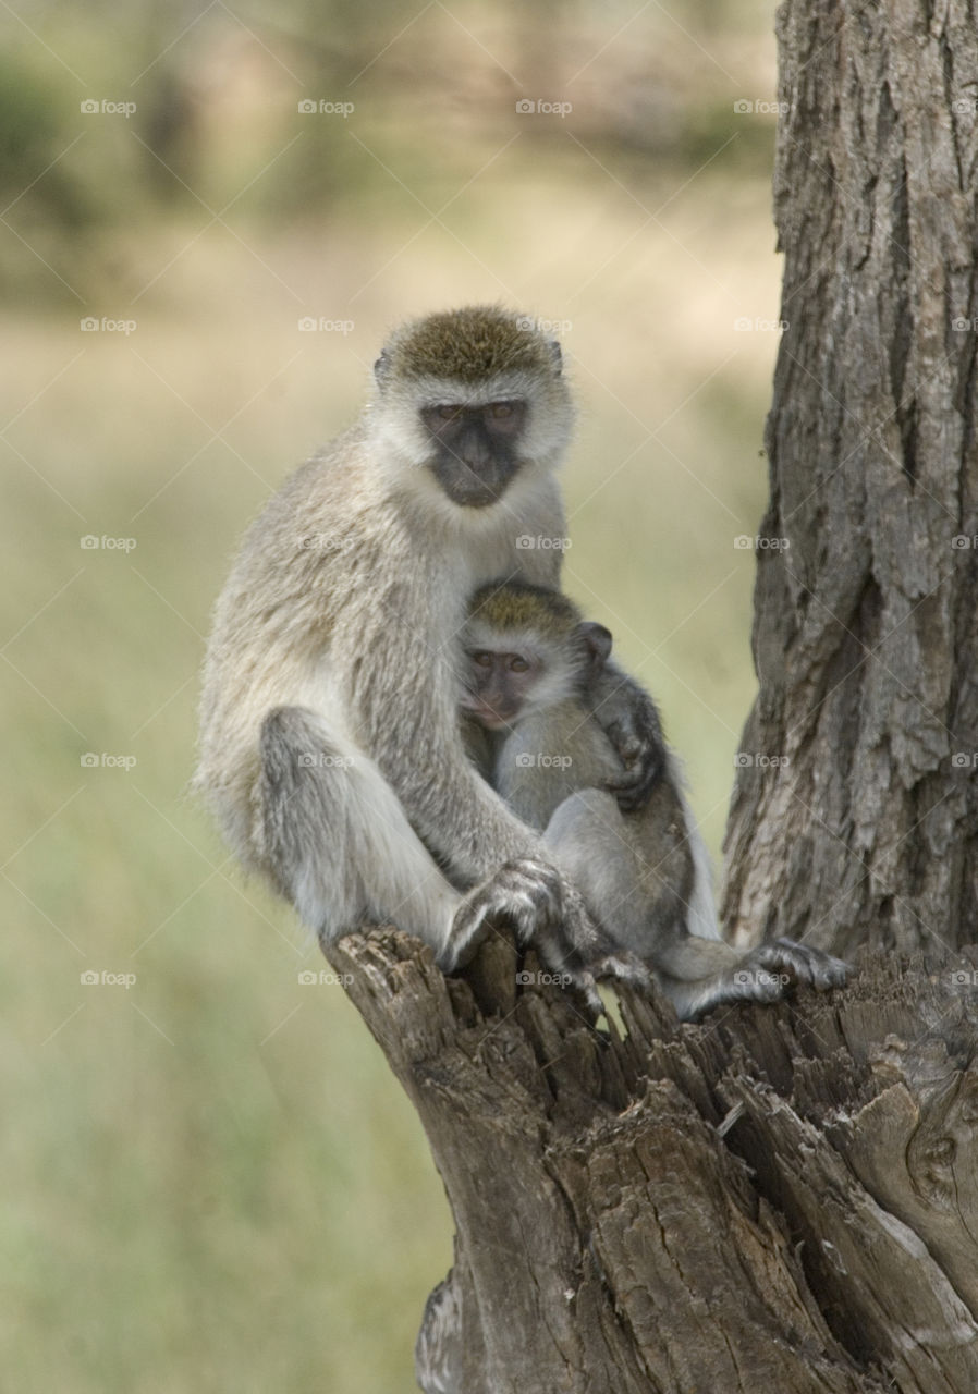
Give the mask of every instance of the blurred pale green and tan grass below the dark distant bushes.
<svg viewBox="0 0 978 1394">
<path fill-rule="evenodd" d="M 754 555 L 733 542 L 763 509 L 776 336 L 734 322 L 777 315 L 766 174 L 554 138 L 465 187 L 483 156 L 460 149 L 411 174 L 430 208 L 463 188 L 442 223 L 376 184 L 234 233 L 143 206 L 65 252 L 84 305 L 21 290 L 0 326 L 0 1365 L 18 1394 L 414 1388 L 451 1262 L 425 1139 L 341 990 L 298 981 L 322 960 L 291 912 L 187 796 L 230 555 L 355 414 L 403 315 L 502 300 L 570 322 L 566 585 L 660 701 L 719 852 L 754 693 Z M 300 332 L 306 315 L 352 330 Z"/>
</svg>

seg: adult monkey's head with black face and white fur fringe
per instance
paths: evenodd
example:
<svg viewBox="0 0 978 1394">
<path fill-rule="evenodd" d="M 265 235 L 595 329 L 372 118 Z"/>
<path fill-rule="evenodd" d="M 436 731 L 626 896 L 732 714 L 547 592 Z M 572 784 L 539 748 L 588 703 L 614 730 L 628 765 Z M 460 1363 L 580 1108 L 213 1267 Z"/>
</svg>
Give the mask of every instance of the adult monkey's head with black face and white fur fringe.
<svg viewBox="0 0 978 1394">
<path fill-rule="evenodd" d="M 499 503 L 517 480 L 552 470 L 570 438 L 560 346 L 525 315 L 476 305 L 414 321 L 373 374 L 383 467 L 407 482 L 408 464 L 414 485 L 457 509 Z"/>
</svg>

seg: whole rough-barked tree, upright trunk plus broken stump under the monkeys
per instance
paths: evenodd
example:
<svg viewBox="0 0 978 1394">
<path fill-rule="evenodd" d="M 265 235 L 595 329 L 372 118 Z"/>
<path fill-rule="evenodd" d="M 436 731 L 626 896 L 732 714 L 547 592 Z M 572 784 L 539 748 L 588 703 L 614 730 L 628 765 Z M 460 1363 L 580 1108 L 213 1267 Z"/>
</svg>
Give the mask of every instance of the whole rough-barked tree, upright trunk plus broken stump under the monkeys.
<svg viewBox="0 0 978 1394">
<path fill-rule="evenodd" d="M 726 910 L 869 948 L 843 993 L 677 1026 L 621 990 L 598 1030 L 499 938 L 454 980 L 333 945 L 456 1217 L 428 1394 L 978 1390 L 978 29 L 789 0 L 779 42 L 790 546 L 743 749 L 787 763 L 740 772 Z"/>
</svg>

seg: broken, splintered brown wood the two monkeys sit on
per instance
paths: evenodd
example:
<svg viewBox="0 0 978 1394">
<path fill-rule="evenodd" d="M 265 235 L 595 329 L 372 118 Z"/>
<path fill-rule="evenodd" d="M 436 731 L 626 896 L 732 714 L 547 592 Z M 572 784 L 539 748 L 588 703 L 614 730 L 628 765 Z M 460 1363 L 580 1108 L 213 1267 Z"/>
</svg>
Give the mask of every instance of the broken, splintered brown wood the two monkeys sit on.
<svg viewBox="0 0 978 1394">
<path fill-rule="evenodd" d="M 481 1009 L 397 931 L 330 962 L 458 1230 L 422 1388 L 978 1388 L 968 959 L 867 956 L 844 993 L 699 1026 L 623 988 L 627 1034 L 515 973 L 493 1012 L 483 967 Z"/>
</svg>

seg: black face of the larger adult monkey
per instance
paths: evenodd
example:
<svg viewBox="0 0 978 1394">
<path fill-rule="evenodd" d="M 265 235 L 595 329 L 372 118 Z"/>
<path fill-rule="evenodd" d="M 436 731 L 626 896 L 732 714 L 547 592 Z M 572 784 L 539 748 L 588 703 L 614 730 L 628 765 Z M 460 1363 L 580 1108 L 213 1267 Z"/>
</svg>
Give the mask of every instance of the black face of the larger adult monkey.
<svg viewBox="0 0 978 1394">
<path fill-rule="evenodd" d="M 421 413 L 432 438 L 429 468 L 453 503 L 485 509 L 502 499 L 520 470 L 517 445 L 527 403 L 489 401 L 482 407 L 444 403 Z"/>
</svg>

